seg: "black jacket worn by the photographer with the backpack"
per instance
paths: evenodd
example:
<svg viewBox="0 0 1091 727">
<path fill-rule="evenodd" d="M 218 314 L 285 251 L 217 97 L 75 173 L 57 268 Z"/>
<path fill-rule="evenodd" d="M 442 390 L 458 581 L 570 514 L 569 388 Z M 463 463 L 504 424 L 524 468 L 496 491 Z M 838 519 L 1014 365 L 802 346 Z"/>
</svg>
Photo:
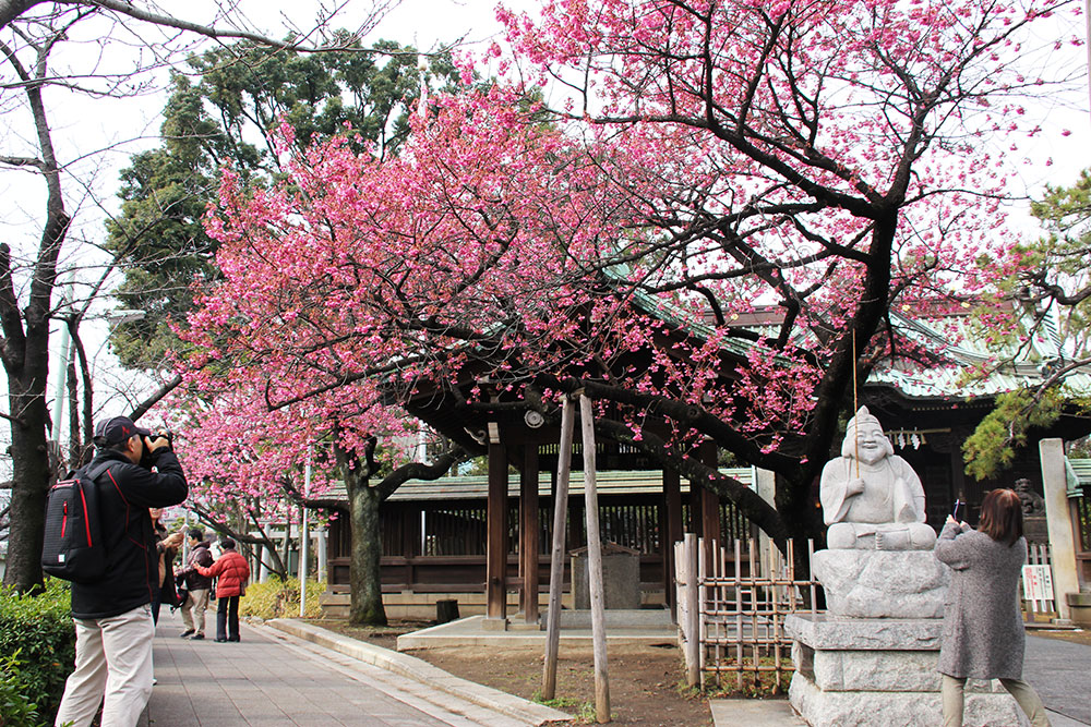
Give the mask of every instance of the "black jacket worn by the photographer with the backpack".
<svg viewBox="0 0 1091 727">
<path fill-rule="evenodd" d="M 111 449 L 98 450 L 87 465 L 117 462 L 95 483 L 106 538 L 106 574 L 93 583 L 72 584 L 75 618 L 108 618 L 152 603 L 159 580 L 159 554 L 147 509 L 178 505 L 189 494 L 175 453 L 163 448 L 153 457 L 158 472 L 133 464 Z"/>
</svg>

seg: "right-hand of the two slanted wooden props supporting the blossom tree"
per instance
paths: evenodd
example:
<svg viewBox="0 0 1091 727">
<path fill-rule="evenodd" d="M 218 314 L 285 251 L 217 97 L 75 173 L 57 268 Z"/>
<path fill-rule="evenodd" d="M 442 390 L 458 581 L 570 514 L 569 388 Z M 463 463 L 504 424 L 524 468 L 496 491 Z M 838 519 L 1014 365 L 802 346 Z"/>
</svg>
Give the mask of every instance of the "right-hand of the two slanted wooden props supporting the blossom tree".
<svg viewBox="0 0 1091 727">
<path fill-rule="evenodd" d="M 610 677 L 607 670 L 606 598 L 602 593 L 602 541 L 599 536 L 599 498 L 595 489 L 595 415 L 591 400 L 579 396 L 584 440 L 584 504 L 587 517 L 587 580 L 591 596 L 591 641 L 595 652 L 595 718 L 610 722 Z"/>
</svg>

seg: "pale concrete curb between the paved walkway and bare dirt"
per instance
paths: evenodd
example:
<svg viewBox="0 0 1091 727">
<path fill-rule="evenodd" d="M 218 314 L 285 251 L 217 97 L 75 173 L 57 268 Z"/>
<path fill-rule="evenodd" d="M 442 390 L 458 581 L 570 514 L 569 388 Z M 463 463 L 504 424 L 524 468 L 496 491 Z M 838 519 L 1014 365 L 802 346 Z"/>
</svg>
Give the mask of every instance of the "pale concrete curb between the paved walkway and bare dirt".
<svg viewBox="0 0 1091 727">
<path fill-rule="evenodd" d="M 492 689 L 491 687 L 484 687 L 468 679 L 455 677 L 415 656 L 399 654 L 382 646 L 364 643 L 311 623 L 302 623 L 295 619 L 275 618 L 265 621 L 265 626 L 284 631 L 298 639 L 310 641 L 313 644 L 331 649 L 346 656 L 351 656 L 364 664 L 408 677 L 432 689 L 464 699 L 478 706 L 493 710 L 530 725 L 543 725 L 550 722 L 567 722 L 572 719 L 572 715 L 570 714 L 542 704 L 536 704 L 520 696 L 502 692 L 499 689 Z"/>
</svg>

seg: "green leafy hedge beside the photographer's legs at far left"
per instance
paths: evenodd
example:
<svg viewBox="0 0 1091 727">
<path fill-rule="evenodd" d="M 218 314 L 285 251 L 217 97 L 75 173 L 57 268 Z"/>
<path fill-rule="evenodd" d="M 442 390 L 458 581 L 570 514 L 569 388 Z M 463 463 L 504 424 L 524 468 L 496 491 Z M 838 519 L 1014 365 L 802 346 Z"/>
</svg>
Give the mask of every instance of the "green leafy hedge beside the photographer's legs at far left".
<svg viewBox="0 0 1091 727">
<path fill-rule="evenodd" d="M 39 716 L 56 713 L 64 692 L 64 680 L 75 663 L 75 629 L 72 626 L 69 584 L 47 579 L 46 589 L 34 595 L 0 590 L 0 705 L 4 713 L 24 705 L 36 706 Z M 14 658 L 10 658 L 14 656 Z M 0 719 L 8 725 L 35 725 L 38 722 Z"/>
</svg>

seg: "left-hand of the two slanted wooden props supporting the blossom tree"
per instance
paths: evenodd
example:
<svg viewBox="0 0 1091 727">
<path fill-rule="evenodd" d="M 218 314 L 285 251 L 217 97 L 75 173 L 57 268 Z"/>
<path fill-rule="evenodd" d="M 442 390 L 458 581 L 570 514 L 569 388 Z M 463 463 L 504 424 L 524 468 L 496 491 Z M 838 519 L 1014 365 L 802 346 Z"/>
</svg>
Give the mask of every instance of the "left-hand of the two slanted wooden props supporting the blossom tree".
<svg viewBox="0 0 1091 727">
<path fill-rule="evenodd" d="M 561 445 L 556 458 L 556 492 L 553 497 L 553 550 L 549 568 L 549 610 L 546 613 L 546 664 L 542 699 L 556 696 L 556 656 L 561 644 L 561 587 L 564 581 L 564 520 L 568 513 L 568 475 L 572 473 L 572 432 L 575 407 L 567 397 L 561 409 Z"/>
</svg>

